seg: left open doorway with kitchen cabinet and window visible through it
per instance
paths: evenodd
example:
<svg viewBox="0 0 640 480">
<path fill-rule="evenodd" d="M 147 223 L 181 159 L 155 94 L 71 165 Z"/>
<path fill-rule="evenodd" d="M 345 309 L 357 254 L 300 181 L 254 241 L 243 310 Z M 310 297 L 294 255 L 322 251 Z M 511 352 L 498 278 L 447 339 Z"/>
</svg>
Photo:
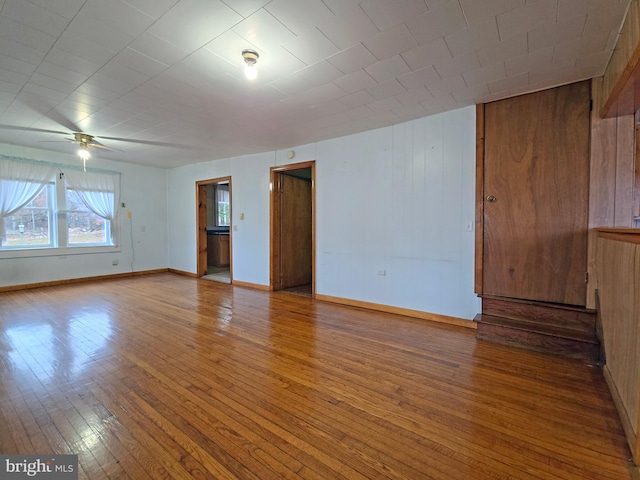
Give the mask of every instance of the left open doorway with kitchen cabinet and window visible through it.
<svg viewBox="0 0 640 480">
<path fill-rule="evenodd" d="M 231 283 L 231 177 L 196 182 L 197 276 Z"/>
</svg>

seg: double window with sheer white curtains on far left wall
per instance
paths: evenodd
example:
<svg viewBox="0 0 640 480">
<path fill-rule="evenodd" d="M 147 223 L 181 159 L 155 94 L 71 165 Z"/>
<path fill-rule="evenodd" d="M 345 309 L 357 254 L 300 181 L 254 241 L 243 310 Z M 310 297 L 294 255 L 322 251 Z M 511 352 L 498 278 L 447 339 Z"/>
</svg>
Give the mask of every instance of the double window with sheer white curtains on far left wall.
<svg viewBox="0 0 640 480">
<path fill-rule="evenodd" d="M 0 187 L 0 250 L 116 245 L 119 173 L 2 160 Z"/>
</svg>

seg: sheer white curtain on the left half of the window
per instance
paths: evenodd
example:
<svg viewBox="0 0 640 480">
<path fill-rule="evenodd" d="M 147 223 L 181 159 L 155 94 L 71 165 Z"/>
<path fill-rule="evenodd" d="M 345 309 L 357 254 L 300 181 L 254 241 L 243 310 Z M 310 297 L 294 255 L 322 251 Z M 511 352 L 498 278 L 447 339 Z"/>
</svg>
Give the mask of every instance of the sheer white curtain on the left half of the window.
<svg viewBox="0 0 640 480">
<path fill-rule="evenodd" d="M 6 240 L 5 218 L 36 198 L 53 181 L 54 165 L 0 157 L 0 245 Z"/>
</svg>

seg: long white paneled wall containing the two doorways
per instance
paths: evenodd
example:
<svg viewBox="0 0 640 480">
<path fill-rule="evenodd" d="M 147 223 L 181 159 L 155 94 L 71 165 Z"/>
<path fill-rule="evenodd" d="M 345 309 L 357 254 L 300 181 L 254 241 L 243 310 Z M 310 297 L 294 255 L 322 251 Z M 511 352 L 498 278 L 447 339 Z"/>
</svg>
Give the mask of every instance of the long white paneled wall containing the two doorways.
<svg viewBox="0 0 640 480">
<path fill-rule="evenodd" d="M 195 182 L 231 175 L 234 280 L 269 283 L 269 169 L 316 160 L 316 292 L 472 319 L 475 108 L 169 170 L 169 267 L 196 272 Z M 244 220 L 239 220 L 240 214 Z M 385 275 L 377 275 L 384 270 Z"/>
</svg>

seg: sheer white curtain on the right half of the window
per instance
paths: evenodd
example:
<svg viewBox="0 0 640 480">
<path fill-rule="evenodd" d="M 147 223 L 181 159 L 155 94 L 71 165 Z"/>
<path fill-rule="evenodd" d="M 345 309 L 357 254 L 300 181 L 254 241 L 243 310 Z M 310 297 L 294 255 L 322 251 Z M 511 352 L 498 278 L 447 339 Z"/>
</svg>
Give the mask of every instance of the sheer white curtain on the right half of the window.
<svg viewBox="0 0 640 480">
<path fill-rule="evenodd" d="M 111 239 L 116 243 L 116 222 L 120 206 L 120 174 L 67 170 L 67 187 L 75 190 L 82 203 L 99 217 L 109 220 Z"/>
</svg>

